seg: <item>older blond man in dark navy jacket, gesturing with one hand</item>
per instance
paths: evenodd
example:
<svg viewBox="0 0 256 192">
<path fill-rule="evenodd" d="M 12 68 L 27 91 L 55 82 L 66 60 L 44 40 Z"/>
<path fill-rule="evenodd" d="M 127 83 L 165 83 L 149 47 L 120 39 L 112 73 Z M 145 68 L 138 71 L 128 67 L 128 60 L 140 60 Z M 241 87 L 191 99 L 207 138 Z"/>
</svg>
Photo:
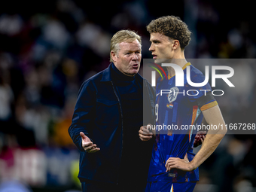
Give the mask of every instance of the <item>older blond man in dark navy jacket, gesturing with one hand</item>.
<svg viewBox="0 0 256 192">
<path fill-rule="evenodd" d="M 138 131 L 154 124 L 155 94 L 138 74 L 141 49 L 135 32 L 117 32 L 110 66 L 79 90 L 69 135 L 81 151 L 83 191 L 144 190 L 152 143 L 142 142 Z"/>
</svg>

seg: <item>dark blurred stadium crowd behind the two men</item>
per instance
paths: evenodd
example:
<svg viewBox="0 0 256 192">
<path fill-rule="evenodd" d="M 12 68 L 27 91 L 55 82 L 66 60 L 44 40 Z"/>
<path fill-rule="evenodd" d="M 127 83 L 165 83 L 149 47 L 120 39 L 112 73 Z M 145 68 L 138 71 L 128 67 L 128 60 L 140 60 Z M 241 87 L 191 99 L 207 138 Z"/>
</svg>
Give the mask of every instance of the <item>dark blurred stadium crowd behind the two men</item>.
<svg viewBox="0 0 256 192">
<path fill-rule="evenodd" d="M 254 5 L 248 0 L 1 2 L 0 192 L 81 191 L 79 153 L 67 131 L 78 89 L 109 65 L 117 30 L 139 32 L 142 58 L 151 58 L 145 26 L 164 15 L 181 17 L 193 32 L 187 58 L 256 56 Z M 249 85 L 246 95 L 218 100 L 225 103 L 226 123 L 256 123 L 254 69 L 235 69 Z M 225 108 L 233 105 L 239 110 Z M 226 136 L 200 166 L 194 191 L 256 191 L 255 138 Z"/>
</svg>

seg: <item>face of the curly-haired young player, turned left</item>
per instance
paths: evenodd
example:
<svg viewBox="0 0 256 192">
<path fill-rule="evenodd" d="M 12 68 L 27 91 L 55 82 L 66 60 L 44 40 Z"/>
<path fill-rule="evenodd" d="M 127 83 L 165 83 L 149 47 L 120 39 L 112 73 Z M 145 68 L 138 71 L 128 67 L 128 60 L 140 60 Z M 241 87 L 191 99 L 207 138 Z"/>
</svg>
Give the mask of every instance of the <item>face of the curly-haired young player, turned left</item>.
<svg viewBox="0 0 256 192">
<path fill-rule="evenodd" d="M 152 52 L 153 59 L 155 63 L 163 63 L 167 59 L 172 59 L 173 50 L 172 50 L 172 40 L 166 35 L 160 34 L 159 32 L 151 33 L 151 47 L 149 51 Z"/>
</svg>

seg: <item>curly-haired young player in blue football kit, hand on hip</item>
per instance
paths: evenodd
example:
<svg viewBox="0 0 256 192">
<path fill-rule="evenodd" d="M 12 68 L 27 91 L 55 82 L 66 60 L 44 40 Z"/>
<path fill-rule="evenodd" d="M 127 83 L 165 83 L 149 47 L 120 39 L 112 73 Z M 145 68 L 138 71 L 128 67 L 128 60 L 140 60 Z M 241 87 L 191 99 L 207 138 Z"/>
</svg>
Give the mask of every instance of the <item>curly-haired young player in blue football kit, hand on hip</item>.
<svg viewBox="0 0 256 192">
<path fill-rule="evenodd" d="M 184 57 L 184 48 L 189 44 L 191 34 L 187 25 L 178 17 L 167 16 L 152 20 L 147 30 L 151 34 L 149 50 L 154 62 L 159 65 L 172 63 L 176 68 L 181 68 L 184 72 L 184 86 L 176 86 L 175 69 L 169 66 L 166 67 L 168 79 L 157 80 L 155 127 L 165 125 L 172 129 L 155 130 L 146 191 L 193 191 L 199 180 L 198 166 L 215 151 L 227 131 L 209 130 L 200 151 L 194 155 L 197 130 L 184 127 L 201 124 L 203 117 L 213 126 L 224 125 L 224 119 L 209 84 L 192 87 L 187 83 L 187 72 L 194 83 L 205 80 L 202 72 Z M 151 139 L 146 126 L 139 130 L 139 137 L 142 141 Z"/>
</svg>

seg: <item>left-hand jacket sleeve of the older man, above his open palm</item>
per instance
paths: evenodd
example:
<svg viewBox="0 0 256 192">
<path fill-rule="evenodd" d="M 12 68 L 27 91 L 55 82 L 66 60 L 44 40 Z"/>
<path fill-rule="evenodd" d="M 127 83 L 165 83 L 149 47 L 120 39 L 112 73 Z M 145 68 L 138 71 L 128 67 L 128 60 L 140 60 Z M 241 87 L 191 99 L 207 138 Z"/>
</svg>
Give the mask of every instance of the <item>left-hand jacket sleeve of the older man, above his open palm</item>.
<svg viewBox="0 0 256 192">
<path fill-rule="evenodd" d="M 90 138 L 90 129 L 93 129 L 92 121 L 95 114 L 95 107 L 96 90 L 91 81 L 85 81 L 78 92 L 72 124 L 69 126 L 69 136 L 80 151 L 84 151 L 81 145 L 80 132 L 83 132 L 92 141 Z"/>
</svg>

